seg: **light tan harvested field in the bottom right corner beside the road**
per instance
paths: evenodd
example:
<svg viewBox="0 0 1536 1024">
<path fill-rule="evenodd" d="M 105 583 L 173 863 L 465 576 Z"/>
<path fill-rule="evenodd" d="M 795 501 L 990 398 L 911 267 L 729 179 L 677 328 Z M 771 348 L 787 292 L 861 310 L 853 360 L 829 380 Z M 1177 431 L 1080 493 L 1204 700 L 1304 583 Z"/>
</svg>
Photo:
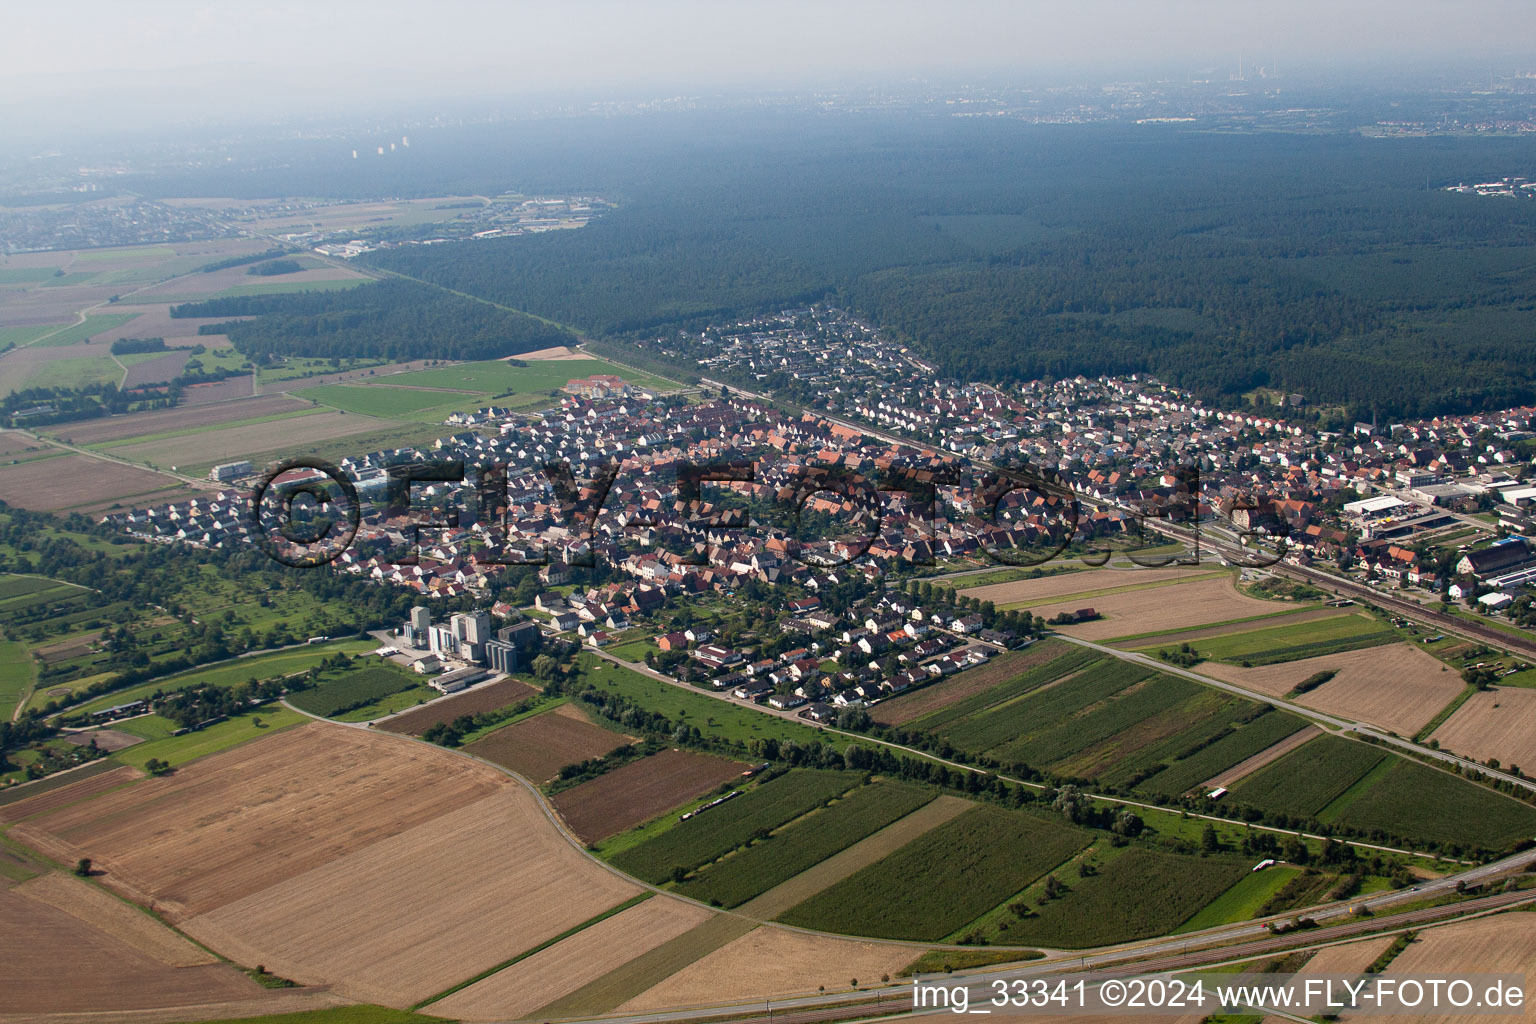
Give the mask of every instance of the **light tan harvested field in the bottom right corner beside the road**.
<svg viewBox="0 0 1536 1024">
<path fill-rule="evenodd" d="M 1499 913 L 1478 921 L 1461 921 L 1424 929 L 1418 940 L 1387 966 L 1387 976 L 1438 976 L 1459 973 L 1536 973 L 1536 921 L 1530 913 Z M 1527 990 L 1525 1012 L 1507 1013 L 1424 1013 L 1415 1024 L 1508 1024 L 1533 1016 Z M 1364 1018 L 1356 1018 L 1364 1019 Z"/>
</svg>

